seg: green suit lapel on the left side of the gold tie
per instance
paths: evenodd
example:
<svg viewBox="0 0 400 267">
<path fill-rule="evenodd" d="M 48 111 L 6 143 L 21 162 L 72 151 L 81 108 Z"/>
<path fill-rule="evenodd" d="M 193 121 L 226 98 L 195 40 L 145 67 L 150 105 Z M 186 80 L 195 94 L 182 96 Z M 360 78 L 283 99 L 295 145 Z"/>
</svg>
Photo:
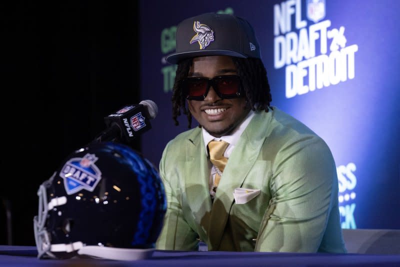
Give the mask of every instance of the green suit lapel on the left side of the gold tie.
<svg viewBox="0 0 400 267">
<path fill-rule="evenodd" d="M 210 169 L 205 154 L 201 130 L 194 130 L 186 139 L 185 190 L 190 216 L 198 228 L 200 239 L 207 240 L 211 213 L 211 199 L 208 191 Z"/>
</svg>

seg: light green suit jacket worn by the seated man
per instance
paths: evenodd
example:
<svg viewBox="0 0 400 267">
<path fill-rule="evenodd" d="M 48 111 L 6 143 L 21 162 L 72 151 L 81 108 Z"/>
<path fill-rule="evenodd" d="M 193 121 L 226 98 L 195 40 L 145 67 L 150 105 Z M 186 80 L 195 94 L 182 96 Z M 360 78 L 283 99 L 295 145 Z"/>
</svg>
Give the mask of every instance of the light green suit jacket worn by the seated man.
<svg viewBox="0 0 400 267">
<path fill-rule="evenodd" d="M 167 197 L 157 249 L 346 252 L 336 167 L 326 143 L 273 107 L 256 112 L 231 152 L 211 202 L 201 128 L 166 145 L 160 175 Z M 237 187 L 260 189 L 243 204 Z"/>
</svg>

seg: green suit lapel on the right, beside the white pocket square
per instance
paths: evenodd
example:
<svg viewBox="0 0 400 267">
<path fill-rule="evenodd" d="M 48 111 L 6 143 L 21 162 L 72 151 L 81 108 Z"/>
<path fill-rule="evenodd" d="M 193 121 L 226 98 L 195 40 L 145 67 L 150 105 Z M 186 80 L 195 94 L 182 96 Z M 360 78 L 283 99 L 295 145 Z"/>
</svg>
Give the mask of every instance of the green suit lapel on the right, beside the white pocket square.
<svg viewBox="0 0 400 267">
<path fill-rule="evenodd" d="M 211 223 L 208 236 L 210 250 L 219 247 L 222 234 L 233 204 L 233 190 L 241 187 L 247 173 L 253 166 L 259 150 L 267 136 L 271 111 L 256 113 L 241 134 L 236 146 L 229 156 L 221 180 L 216 190 L 211 209 Z"/>
</svg>

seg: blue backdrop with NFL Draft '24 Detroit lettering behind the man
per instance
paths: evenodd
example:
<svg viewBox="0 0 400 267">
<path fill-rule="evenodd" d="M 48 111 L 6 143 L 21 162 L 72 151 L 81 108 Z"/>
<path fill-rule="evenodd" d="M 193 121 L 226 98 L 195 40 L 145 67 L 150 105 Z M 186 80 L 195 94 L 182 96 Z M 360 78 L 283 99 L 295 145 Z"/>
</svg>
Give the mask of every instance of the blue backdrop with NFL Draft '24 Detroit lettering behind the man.
<svg viewBox="0 0 400 267">
<path fill-rule="evenodd" d="M 165 144 L 187 129 L 172 120 L 176 25 L 203 12 L 233 13 L 254 27 L 271 104 L 329 145 L 343 228 L 400 228 L 400 1 L 253 0 L 140 2 L 141 98 L 159 112 L 142 135 L 158 165 Z M 193 121 L 193 126 L 196 122 Z"/>
</svg>

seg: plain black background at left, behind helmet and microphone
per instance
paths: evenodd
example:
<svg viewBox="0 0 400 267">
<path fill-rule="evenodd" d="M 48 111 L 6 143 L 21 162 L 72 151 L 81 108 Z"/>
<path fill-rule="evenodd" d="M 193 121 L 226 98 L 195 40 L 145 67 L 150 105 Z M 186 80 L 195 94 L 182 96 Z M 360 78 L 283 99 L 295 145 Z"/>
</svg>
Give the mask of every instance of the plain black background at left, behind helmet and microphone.
<svg viewBox="0 0 400 267">
<path fill-rule="evenodd" d="M 140 101 L 138 17 L 138 1 L 1 1 L 0 244 L 34 245 L 39 184 Z"/>
</svg>

